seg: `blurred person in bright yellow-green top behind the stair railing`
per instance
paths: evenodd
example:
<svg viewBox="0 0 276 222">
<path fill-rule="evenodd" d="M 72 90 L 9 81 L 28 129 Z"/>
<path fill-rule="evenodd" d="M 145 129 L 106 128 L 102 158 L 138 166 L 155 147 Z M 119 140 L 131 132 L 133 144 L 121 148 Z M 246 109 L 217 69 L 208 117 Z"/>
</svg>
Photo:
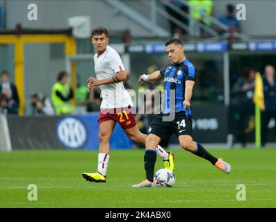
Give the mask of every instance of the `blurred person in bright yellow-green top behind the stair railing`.
<svg viewBox="0 0 276 222">
<path fill-rule="evenodd" d="M 206 37 L 204 29 L 200 28 L 198 23 L 211 27 L 211 15 L 213 9 L 213 1 L 211 0 L 189 0 L 190 15 L 197 23 L 191 23 L 193 34 L 199 37 Z"/>
</svg>

